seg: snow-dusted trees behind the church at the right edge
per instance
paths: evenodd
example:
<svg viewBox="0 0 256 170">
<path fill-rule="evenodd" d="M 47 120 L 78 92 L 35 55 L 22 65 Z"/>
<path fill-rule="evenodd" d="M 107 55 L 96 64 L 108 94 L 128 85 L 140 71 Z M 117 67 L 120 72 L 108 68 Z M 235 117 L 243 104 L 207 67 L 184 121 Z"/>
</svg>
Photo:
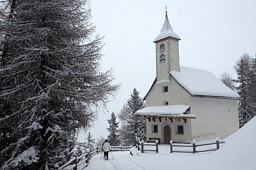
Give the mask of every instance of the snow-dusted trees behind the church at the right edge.
<svg viewBox="0 0 256 170">
<path fill-rule="evenodd" d="M 237 78 L 229 73 L 222 73 L 220 80 L 231 90 L 238 92 L 239 125 L 243 127 L 256 115 L 256 56 L 243 54 L 233 66 Z"/>
</svg>

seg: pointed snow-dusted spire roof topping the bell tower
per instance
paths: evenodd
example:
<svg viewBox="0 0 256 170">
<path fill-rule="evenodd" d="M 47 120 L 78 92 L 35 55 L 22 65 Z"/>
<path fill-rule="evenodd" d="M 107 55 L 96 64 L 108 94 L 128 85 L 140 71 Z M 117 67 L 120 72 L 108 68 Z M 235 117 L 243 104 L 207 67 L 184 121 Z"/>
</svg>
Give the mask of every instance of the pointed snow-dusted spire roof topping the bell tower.
<svg viewBox="0 0 256 170">
<path fill-rule="evenodd" d="M 167 17 L 167 13 L 165 15 L 165 22 L 162 25 L 162 29 L 160 31 L 160 34 L 154 39 L 154 43 L 156 41 L 159 41 L 163 38 L 167 38 L 167 37 L 172 37 L 172 38 L 177 38 L 177 39 L 181 39 L 179 38 L 179 36 L 173 31 L 171 24 L 169 24 L 169 20 Z"/>
</svg>

